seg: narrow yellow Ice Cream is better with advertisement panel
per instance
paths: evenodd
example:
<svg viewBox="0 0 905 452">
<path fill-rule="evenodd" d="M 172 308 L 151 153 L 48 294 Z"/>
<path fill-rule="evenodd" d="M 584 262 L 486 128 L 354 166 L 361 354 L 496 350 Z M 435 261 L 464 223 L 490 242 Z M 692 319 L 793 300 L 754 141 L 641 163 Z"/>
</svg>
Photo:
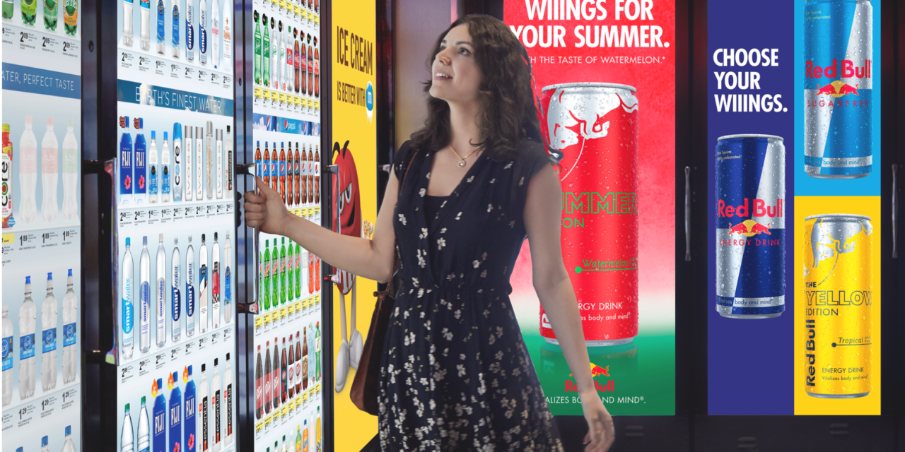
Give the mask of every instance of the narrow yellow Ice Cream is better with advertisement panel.
<svg viewBox="0 0 905 452">
<path fill-rule="evenodd" d="M 376 10 L 374 2 L 332 3 L 331 91 L 333 140 L 330 158 L 338 165 L 330 199 L 339 202 L 340 232 L 366 237 L 377 217 Z M 337 190 L 337 185 L 338 189 Z M 339 196 L 337 195 L 339 194 Z M 333 231 L 337 205 L 333 206 Z M 333 393 L 337 434 L 334 450 L 361 450 L 377 434 L 377 419 L 358 410 L 349 399 L 358 359 L 374 312 L 376 282 L 339 272 L 333 290 Z M 355 428 L 339 428 L 355 426 Z"/>
</svg>

